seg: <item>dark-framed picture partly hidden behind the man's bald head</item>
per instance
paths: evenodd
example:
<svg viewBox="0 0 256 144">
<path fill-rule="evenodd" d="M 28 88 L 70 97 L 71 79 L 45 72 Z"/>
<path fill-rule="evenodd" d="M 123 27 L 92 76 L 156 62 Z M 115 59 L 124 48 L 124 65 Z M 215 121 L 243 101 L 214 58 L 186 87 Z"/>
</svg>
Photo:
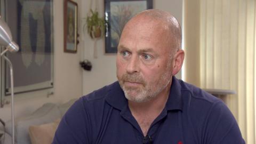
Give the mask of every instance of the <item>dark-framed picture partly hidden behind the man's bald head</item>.
<svg viewBox="0 0 256 144">
<path fill-rule="evenodd" d="M 127 21 L 135 14 L 153 9 L 152 0 L 105 0 L 105 52 L 116 53 L 119 38 Z"/>
</svg>

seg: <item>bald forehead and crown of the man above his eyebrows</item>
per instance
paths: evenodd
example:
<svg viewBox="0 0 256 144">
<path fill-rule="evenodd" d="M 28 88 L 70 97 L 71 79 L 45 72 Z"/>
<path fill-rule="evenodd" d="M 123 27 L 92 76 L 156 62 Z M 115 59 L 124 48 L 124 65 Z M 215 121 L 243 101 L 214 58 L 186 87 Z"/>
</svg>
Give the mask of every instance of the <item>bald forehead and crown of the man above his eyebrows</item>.
<svg viewBox="0 0 256 144">
<path fill-rule="evenodd" d="M 132 48 L 132 50 L 139 48 L 140 51 L 149 51 L 148 48 L 151 48 L 152 50 L 157 49 L 156 51 L 161 49 L 160 51 L 169 52 L 172 47 L 175 47 L 173 31 L 179 29 L 179 23 L 169 13 L 163 17 L 157 18 L 158 16 L 156 14 L 152 17 L 142 12 L 127 22 L 119 41 L 120 48 Z"/>
</svg>

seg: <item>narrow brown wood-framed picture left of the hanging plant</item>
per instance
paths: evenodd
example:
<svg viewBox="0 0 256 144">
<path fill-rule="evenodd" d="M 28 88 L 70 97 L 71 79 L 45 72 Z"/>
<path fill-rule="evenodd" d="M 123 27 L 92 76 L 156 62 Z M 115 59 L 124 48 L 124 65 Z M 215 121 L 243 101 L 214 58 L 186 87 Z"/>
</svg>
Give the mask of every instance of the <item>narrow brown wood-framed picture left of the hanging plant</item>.
<svg viewBox="0 0 256 144">
<path fill-rule="evenodd" d="M 64 51 L 77 52 L 77 3 L 64 2 Z"/>
</svg>

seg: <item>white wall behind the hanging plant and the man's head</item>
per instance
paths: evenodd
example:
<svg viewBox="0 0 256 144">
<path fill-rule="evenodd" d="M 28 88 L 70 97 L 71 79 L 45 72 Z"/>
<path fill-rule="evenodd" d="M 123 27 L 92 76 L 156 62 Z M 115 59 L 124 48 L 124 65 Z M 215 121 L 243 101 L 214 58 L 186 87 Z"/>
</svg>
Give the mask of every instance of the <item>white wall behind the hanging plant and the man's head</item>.
<svg viewBox="0 0 256 144">
<path fill-rule="evenodd" d="M 101 17 L 104 13 L 103 0 L 98 0 L 98 10 Z M 95 1 L 94 1 L 95 4 Z M 94 5 L 93 4 L 93 5 Z M 82 1 L 82 17 L 86 17 L 89 11 L 90 1 Z M 94 9 L 94 6 L 92 6 Z M 170 12 L 182 23 L 182 0 L 157 0 L 153 1 L 154 9 L 161 9 Z M 92 70 L 83 72 L 83 94 L 87 94 L 93 90 L 97 90 L 102 86 L 113 83 L 116 78 L 116 54 L 105 54 L 105 40 L 99 39 L 97 42 L 98 58 L 93 58 L 93 40 L 87 35 L 85 31 L 83 35 L 84 43 L 84 59 L 89 59 L 92 62 Z"/>
</svg>

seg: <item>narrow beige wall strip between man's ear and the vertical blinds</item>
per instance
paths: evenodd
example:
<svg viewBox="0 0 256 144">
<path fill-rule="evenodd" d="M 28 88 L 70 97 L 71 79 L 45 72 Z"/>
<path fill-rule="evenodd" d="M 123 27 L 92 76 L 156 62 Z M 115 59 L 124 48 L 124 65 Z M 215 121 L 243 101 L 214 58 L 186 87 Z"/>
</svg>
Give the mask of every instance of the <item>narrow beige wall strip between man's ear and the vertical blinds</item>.
<svg viewBox="0 0 256 144">
<path fill-rule="evenodd" d="M 200 86 L 200 1 L 184 1 L 184 48 L 185 48 L 185 67 L 184 80 L 188 83 Z"/>
</svg>

